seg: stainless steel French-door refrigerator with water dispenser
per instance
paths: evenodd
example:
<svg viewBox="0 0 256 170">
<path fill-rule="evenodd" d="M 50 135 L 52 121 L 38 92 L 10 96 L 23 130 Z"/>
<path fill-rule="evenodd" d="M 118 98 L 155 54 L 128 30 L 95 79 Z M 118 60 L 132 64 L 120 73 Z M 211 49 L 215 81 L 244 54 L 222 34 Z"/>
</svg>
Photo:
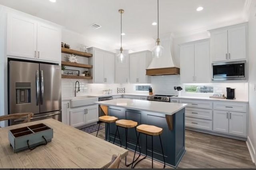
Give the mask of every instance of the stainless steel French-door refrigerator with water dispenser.
<svg viewBox="0 0 256 170">
<path fill-rule="evenodd" d="M 61 121 L 61 67 L 54 64 L 8 62 L 9 114 L 32 112 L 31 121 Z M 11 120 L 10 125 L 23 120 Z"/>
</svg>

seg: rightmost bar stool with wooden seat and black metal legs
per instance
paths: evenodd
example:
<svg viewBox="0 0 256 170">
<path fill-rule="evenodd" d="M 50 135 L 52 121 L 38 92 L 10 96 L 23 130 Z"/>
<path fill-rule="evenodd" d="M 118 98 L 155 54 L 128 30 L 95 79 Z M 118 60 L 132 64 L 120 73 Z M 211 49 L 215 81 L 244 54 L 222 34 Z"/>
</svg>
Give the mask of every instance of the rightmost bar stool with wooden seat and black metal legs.
<svg viewBox="0 0 256 170">
<path fill-rule="evenodd" d="M 157 126 L 141 124 L 141 125 L 137 126 L 137 131 L 139 132 L 139 135 L 138 135 L 138 141 L 137 141 L 134 156 L 133 156 L 132 168 L 134 168 L 136 166 L 136 164 L 138 164 L 138 162 L 140 162 L 141 160 L 145 159 L 148 156 L 148 136 L 151 136 L 151 138 L 152 138 L 152 168 L 153 168 L 153 150 L 154 150 L 153 149 L 154 148 L 153 147 L 153 136 L 159 136 L 162 154 L 163 154 L 163 158 L 164 158 L 164 150 L 163 150 L 162 140 L 161 140 L 161 136 L 160 136 L 163 132 L 163 129 L 159 128 Z M 146 134 L 146 156 L 144 158 L 138 160 L 138 162 L 136 162 L 136 164 L 133 166 L 135 153 L 136 153 L 136 149 L 137 149 L 139 138 L 140 138 L 140 133 Z M 165 159 L 164 159 L 164 168 L 165 168 Z"/>
</svg>

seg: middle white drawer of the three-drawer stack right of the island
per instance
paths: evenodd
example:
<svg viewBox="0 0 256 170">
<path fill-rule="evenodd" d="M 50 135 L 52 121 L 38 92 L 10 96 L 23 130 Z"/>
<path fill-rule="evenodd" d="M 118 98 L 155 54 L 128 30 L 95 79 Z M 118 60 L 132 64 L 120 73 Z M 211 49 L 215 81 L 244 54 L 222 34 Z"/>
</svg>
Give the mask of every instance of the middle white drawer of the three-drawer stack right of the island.
<svg viewBox="0 0 256 170">
<path fill-rule="evenodd" d="M 186 107 L 186 116 L 192 118 L 208 119 L 212 120 L 212 110 L 198 109 L 198 108 L 188 108 Z"/>
</svg>

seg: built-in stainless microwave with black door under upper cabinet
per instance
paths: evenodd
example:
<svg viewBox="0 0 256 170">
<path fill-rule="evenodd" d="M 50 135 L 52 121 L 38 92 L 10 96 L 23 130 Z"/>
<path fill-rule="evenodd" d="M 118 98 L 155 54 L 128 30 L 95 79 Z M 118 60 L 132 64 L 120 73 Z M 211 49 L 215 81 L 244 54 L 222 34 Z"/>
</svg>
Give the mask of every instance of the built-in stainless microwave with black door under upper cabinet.
<svg viewBox="0 0 256 170">
<path fill-rule="evenodd" d="M 247 80 L 246 61 L 213 63 L 212 80 Z"/>
</svg>

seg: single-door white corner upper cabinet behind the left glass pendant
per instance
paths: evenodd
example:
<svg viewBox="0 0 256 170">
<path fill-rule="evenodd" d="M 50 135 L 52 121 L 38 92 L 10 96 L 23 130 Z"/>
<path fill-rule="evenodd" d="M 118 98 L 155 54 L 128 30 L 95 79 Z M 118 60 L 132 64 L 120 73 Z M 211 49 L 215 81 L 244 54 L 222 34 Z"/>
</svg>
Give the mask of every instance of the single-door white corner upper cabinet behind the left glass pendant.
<svg viewBox="0 0 256 170">
<path fill-rule="evenodd" d="M 126 52 L 124 52 L 124 54 L 124 62 L 116 62 L 116 83 L 118 84 L 125 84 L 129 82 L 129 54 Z"/>
</svg>

